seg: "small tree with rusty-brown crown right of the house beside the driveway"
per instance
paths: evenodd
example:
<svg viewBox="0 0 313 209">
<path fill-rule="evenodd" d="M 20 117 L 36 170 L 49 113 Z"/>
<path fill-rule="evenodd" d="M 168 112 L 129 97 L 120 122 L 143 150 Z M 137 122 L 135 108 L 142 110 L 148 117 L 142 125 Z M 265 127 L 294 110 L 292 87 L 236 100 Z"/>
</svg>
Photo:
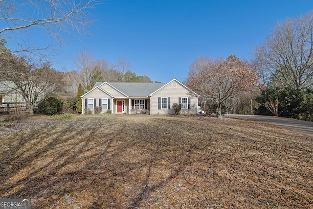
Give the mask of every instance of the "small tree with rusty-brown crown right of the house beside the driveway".
<svg viewBox="0 0 313 209">
<path fill-rule="evenodd" d="M 236 56 L 208 59 L 206 62 L 203 62 L 203 59 L 196 59 L 191 65 L 186 83 L 201 97 L 215 101 L 218 104 L 218 115 L 222 118 L 223 102 L 238 93 L 257 87 L 259 77 L 251 65 L 240 61 Z"/>
</svg>

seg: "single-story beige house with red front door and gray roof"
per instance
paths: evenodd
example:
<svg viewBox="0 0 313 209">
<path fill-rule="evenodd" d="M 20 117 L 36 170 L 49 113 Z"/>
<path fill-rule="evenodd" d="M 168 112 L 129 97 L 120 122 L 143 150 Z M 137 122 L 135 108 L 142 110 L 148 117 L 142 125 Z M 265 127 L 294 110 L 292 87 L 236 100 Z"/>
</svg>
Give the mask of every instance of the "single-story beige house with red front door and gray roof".
<svg viewBox="0 0 313 209">
<path fill-rule="evenodd" d="M 197 114 L 198 94 L 177 79 L 168 83 L 96 83 L 93 89 L 81 96 L 83 114 L 96 106 L 102 113 L 112 114 L 148 112 L 150 115 L 175 114 L 173 103 L 182 104 L 181 113 Z"/>
</svg>

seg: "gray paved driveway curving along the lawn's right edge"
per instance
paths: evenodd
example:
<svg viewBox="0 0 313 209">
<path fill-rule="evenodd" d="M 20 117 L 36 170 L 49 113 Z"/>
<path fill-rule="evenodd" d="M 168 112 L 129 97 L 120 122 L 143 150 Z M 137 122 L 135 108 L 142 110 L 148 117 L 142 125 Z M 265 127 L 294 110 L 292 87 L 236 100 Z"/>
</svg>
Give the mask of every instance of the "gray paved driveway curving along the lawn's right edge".
<svg viewBox="0 0 313 209">
<path fill-rule="evenodd" d="M 229 114 L 231 117 L 244 117 L 252 120 L 258 120 L 267 122 L 270 124 L 275 124 L 281 128 L 288 129 L 292 132 L 296 132 L 303 136 L 313 139 L 313 122 L 296 120 L 286 117 L 275 117 L 275 116 L 249 116 L 249 115 L 233 115 Z"/>
</svg>

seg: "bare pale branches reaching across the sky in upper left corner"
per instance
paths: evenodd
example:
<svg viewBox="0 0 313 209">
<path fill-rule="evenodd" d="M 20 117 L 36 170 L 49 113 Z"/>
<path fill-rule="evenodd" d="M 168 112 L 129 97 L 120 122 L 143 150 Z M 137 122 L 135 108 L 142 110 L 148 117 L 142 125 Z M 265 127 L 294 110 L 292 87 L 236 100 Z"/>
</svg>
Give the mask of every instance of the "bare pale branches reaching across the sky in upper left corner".
<svg viewBox="0 0 313 209">
<path fill-rule="evenodd" d="M 47 46 L 25 45 L 25 32 L 36 28 L 61 43 L 61 32 L 85 33 L 93 23 L 91 11 L 102 0 L 0 0 L 0 35 L 18 40 L 11 52 L 36 53 Z M 21 41 L 22 40 L 22 41 Z M 49 46 L 50 44 L 48 44 Z"/>
</svg>

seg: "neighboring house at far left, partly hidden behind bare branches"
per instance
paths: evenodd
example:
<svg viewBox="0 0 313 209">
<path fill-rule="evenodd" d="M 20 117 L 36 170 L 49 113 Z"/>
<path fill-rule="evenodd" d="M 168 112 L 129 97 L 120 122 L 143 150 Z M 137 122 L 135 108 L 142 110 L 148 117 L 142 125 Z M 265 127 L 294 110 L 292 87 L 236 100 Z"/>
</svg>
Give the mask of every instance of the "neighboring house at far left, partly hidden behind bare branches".
<svg viewBox="0 0 313 209">
<path fill-rule="evenodd" d="M 15 104 L 25 103 L 25 100 L 13 82 L 2 81 L 0 82 L 0 106 L 6 106 L 7 103 L 15 106 Z"/>
</svg>

